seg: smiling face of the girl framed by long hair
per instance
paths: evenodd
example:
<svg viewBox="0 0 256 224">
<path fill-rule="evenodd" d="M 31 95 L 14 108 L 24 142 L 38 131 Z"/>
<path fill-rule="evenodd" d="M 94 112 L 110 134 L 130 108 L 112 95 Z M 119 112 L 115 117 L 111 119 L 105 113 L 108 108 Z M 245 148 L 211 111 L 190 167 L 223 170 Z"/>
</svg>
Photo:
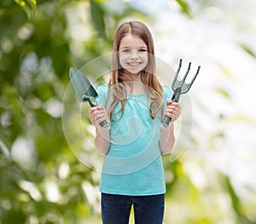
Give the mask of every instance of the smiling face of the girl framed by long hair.
<svg viewBox="0 0 256 224">
<path fill-rule="evenodd" d="M 121 39 L 119 63 L 131 75 L 143 71 L 148 64 L 148 47 L 141 38 L 128 34 Z"/>
</svg>

